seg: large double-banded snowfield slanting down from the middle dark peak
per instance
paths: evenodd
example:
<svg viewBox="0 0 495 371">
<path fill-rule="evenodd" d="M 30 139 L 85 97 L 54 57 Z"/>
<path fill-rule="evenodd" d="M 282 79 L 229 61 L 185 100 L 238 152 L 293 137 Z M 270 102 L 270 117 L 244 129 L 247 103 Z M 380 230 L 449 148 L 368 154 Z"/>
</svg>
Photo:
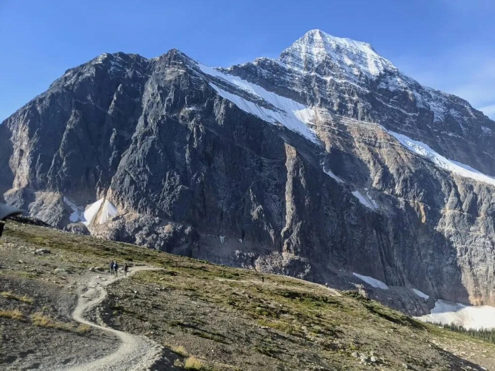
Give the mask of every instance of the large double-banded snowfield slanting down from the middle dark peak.
<svg viewBox="0 0 495 371">
<path fill-rule="evenodd" d="M 272 124 L 280 123 L 312 142 L 319 143 L 314 131 L 307 126 L 314 122 L 314 109 L 276 93 L 268 92 L 260 86 L 249 83 L 237 76 L 217 71 L 204 64 L 198 63 L 198 67 L 205 74 L 221 79 L 222 82 L 232 86 L 234 91 L 247 93 L 247 96 L 255 96 L 266 102 L 267 106 L 274 107 L 274 109 L 263 107 L 238 94 L 229 93 L 214 83 L 209 84 L 220 96 L 230 100 L 243 111 Z"/>
</svg>

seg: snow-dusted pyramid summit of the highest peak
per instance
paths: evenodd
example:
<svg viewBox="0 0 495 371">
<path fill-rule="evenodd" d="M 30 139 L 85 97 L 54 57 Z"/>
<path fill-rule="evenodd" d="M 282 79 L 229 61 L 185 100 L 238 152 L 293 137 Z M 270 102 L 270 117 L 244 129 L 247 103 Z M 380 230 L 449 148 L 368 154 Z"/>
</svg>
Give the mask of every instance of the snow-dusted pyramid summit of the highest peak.
<svg viewBox="0 0 495 371">
<path fill-rule="evenodd" d="M 375 78 L 387 70 L 396 71 L 389 60 L 380 56 L 368 43 L 340 38 L 320 30 L 310 30 L 285 49 L 279 62 L 292 68 L 313 72 L 330 60 L 344 73 Z"/>
</svg>

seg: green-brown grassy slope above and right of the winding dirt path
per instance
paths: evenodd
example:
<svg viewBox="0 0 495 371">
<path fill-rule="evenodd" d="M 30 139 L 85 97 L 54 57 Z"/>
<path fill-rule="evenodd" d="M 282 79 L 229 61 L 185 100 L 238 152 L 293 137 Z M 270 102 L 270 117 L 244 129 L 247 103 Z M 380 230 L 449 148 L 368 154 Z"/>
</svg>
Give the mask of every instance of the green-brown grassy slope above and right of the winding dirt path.
<svg viewBox="0 0 495 371">
<path fill-rule="evenodd" d="M 21 251 L 53 253 L 35 256 L 40 265 L 34 270 L 0 260 L 2 276 L 61 286 L 67 282 L 53 276 L 54 267 L 70 269 L 71 279 L 92 266 L 106 268 L 112 259 L 163 267 L 108 287 L 102 315 L 113 327 L 183 347 L 177 351 L 178 366 L 195 356 L 210 370 L 494 367 L 493 344 L 418 323 L 354 292 L 276 275 L 264 275 L 262 282 L 253 271 L 15 223 L 0 243 L 10 250 L 21 246 Z M 361 354 L 368 359 L 373 354 L 376 362 L 361 363 Z"/>
</svg>

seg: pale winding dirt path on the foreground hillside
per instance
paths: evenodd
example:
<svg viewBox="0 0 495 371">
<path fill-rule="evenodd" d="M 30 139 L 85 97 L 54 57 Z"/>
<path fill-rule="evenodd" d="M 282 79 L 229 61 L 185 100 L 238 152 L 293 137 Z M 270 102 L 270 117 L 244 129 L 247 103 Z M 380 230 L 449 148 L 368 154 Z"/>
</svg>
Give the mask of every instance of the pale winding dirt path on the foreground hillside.
<svg viewBox="0 0 495 371">
<path fill-rule="evenodd" d="M 158 268 L 135 267 L 130 269 L 127 277 L 139 271 L 158 270 Z M 89 276 L 89 281 L 86 284 L 86 290 L 80 289 L 80 296 L 77 306 L 72 313 L 74 320 L 81 324 L 90 325 L 100 330 L 107 331 L 117 336 L 120 341 L 120 347 L 111 354 L 103 356 L 85 364 L 72 365 L 63 370 L 68 371 L 127 371 L 127 370 L 151 370 L 153 365 L 157 363 L 163 355 L 163 347 L 148 339 L 145 336 L 132 335 L 126 332 L 115 330 L 101 325 L 95 324 L 84 318 L 84 315 L 101 303 L 106 297 L 104 286 L 115 282 L 119 279 L 125 279 L 123 272 L 119 277 L 113 277 L 102 273 L 94 273 Z"/>
</svg>

